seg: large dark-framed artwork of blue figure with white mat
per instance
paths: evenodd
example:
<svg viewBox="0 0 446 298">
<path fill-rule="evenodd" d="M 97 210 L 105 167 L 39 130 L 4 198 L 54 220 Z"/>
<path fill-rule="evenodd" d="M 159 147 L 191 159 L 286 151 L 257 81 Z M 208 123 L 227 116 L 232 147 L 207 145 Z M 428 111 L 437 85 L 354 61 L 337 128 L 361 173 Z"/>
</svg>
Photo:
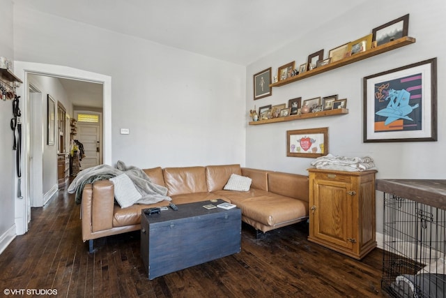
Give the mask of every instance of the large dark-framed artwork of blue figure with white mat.
<svg viewBox="0 0 446 298">
<path fill-rule="evenodd" d="M 437 140 L 437 59 L 364 77 L 364 142 Z"/>
</svg>

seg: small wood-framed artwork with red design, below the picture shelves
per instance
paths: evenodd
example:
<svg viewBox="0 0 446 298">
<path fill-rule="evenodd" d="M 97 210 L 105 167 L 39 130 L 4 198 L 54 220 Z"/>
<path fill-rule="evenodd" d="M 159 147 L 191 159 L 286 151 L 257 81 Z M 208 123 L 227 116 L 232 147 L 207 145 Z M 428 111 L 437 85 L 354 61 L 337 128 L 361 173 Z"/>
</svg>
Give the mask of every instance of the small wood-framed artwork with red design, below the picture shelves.
<svg viewBox="0 0 446 298">
<path fill-rule="evenodd" d="M 317 158 L 328 154 L 328 127 L 286 131 L 286 156 Z"/>
</svg>

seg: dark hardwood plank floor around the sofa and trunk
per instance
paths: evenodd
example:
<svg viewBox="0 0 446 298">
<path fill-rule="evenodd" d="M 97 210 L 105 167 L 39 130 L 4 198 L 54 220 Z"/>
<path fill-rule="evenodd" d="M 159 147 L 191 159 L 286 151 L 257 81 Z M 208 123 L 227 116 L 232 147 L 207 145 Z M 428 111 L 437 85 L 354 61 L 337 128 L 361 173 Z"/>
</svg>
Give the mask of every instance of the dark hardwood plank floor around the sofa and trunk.
<svg viewBox="0 0 446 298">
<path fill-rule="evenodd" d="M 149 281 L 139 232 L 98 239 L 98 251 L 90 254 L 79 208 L 61 190 L 45 207 L 32 209 L 29 232 L 0 255 L 2 291 L 57 291 L 36 297 L 387 297 L 380 289 L 382 251 L 354 260 L 307 241 L 307 223 L 263 239 L 243 225 L 241 253 Z"/>
</svg>

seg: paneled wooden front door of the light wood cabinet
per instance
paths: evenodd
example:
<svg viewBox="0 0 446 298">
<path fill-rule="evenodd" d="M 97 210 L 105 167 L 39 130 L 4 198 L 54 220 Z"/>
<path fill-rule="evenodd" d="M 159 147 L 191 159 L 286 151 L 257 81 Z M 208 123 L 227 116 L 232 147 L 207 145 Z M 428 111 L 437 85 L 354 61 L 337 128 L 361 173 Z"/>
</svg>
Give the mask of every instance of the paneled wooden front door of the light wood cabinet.
<svg viewBox="0 0 446 298">
<path fill-rule="evenodd" d="M 348 241 L 352 234 L 352 198 L 347 195 L 351 184 L 339 181 L 314 180 L 314 237 L 336 246 L 353 249 Z M 311 221 L 311 218 L 310 218 Z"/>
</svg>

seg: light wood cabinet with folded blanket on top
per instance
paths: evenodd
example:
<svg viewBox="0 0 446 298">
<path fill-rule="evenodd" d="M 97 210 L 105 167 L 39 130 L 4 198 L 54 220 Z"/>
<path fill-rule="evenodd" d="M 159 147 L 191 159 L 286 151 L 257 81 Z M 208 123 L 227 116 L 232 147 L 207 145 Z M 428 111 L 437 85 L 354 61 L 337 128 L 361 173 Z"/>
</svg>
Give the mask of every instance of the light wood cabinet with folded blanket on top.
<svg viewBox="0 0 446 298">
<path fill-rule="evenodd" d="M 308 240 L 358 260 L 364 258 L 376 247 L 376 171 L 308 171 Z"/>
</svg>

